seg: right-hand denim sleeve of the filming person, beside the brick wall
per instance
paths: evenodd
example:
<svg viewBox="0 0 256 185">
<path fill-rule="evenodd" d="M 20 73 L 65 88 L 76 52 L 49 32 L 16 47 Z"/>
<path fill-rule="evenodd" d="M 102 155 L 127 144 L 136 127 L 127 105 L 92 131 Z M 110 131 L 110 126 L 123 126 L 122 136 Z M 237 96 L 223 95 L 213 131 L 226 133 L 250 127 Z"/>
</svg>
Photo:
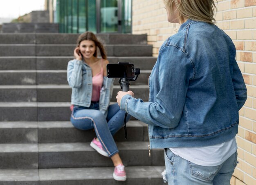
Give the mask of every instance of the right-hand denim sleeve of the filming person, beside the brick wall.
<svg viewBox="0 0 256 185">
<path fill-rule="evenodd" d="M 238 64 L 236 63 L 236 60 L 234 60 L 232 81 L 233 81 L 233 86 L 236 94 L 236 102 L 238 105 L 238 110 L 240 110 L 245 104 L 245 101 L 247 99 L 247 89 L 245 86 L 243 75 L 238 67 Z"/>
</svg>

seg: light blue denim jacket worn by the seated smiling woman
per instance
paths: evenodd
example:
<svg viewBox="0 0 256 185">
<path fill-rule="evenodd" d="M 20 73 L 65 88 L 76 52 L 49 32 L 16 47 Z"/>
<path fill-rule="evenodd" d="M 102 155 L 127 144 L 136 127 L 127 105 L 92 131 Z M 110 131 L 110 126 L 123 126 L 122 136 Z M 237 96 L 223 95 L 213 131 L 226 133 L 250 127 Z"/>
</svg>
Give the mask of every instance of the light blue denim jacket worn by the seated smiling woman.
<svg viewBox="0 0 256 185">
<path fill-rule="evenodd" d="M 71 104 L 90 107 L 92 99 L 92 69 L 81 60 L 67 64 L 67 81 L 72 87 Z M 113 79 L 103 77 L 100 91 L 99 110 L 107 117 L 107 110 L 113 90 Z"/>
</svg>

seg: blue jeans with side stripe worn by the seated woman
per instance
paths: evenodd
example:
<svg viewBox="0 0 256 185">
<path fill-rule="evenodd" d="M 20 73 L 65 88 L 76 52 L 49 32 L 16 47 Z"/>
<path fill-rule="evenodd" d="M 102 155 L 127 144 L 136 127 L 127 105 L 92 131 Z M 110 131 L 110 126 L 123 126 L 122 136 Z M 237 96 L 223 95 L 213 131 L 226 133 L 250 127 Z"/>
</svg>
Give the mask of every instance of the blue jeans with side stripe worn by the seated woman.
<svg viewBox="0 0 256 185">
<path fill-rule="evenodd" d="M 74 106 L 70 121 L 80 130 L 94 129 L 104 150 L 111 157 L 119 152 L 113 135 L 123 126 L 125 113 L 118 104 L 113 104 L 108 107 L 105 118 L 99 111 L 99 103 L 92 103 L 90 107 Z M 130 115 L 127 115 L 126 121 L 129 119 Z"/>
</svg>

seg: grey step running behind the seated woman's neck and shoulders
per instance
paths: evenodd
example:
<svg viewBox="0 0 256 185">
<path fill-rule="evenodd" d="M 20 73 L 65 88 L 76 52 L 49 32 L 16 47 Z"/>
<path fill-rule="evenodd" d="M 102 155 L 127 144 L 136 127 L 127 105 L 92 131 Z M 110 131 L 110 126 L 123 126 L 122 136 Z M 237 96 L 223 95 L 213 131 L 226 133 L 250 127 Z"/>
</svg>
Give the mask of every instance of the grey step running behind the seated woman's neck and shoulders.
<svg viewBox="0 0 256 185">
<path fill-rule="evenodd" d="M 67 63 L 74 59 L 73 56 L 58 57 L 0 57 L 1 70 L 45 70 L 67 69 Z M 156 57 L 108 57 L 111 64 L 118 62 L 129 62 L 141 70 L 151 70 L 157 60 Z"/>
</svg>

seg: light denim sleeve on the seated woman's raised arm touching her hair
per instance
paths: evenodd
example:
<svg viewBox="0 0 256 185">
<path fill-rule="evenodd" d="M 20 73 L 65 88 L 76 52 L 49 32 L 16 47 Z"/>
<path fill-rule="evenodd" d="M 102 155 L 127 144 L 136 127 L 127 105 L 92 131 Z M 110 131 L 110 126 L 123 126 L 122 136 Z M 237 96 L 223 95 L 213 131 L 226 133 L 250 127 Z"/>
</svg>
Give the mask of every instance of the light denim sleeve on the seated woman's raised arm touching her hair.
<svg viewBox="0 0 256 185">
<path fill-rule="evenodd" d="M 67 81 L 72 88 L 80 88 L 82 86 L 82 65 L 83 61 L 76 59 L 67 64 Z"/>
</svg>

